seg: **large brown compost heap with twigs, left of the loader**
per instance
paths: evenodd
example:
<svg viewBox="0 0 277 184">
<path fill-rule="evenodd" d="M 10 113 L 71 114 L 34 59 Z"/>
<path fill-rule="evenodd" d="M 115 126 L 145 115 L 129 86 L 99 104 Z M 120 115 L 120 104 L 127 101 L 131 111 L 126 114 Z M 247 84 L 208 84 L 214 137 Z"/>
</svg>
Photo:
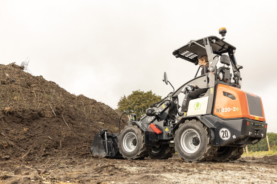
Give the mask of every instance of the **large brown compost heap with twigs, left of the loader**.
<svg viewBox="0 0 277 184">
<path fill-rule="evenodd" d="M 79 158 L 99 130 L 118 132 L 120 111 L 23 70 L 0 65 L 0 160 Z"/>
</svg>

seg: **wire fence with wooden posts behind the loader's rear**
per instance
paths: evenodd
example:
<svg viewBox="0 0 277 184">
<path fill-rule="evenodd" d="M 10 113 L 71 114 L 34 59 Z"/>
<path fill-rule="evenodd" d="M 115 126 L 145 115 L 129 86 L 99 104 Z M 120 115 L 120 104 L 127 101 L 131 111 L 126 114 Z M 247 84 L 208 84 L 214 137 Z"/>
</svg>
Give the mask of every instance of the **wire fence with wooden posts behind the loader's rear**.
<svg viewBox="0 0 277 184">
<path fill-rule="evenodd" d="M 268 142 L 267 142 L 268 140 Z M 247 149 L 244 148 L 244 151 L 250 152 L 256 152 L 256 151 L 277 151 L 277 138 L 270 138 L 268 137 L 261 140 L 260 142 L 258 142 L 257 144 L 249 144 L 247 145 Z"/>
</svg>

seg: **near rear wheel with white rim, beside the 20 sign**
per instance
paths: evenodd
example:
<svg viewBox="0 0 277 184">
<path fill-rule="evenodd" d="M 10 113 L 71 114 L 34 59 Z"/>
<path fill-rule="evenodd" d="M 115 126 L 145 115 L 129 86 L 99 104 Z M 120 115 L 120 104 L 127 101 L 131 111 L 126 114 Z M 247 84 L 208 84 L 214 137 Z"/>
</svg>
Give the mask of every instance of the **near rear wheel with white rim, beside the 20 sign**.
<svg viewBox="0 0 277 184">
<path fill-rule="evenodd" d="M 180 124 L 175 133 L 175 150 L 186 162 L 202 162 L 211 159 L 218 147 L 210 143 L 209 129 L 195 119 Z"/>
</svg>

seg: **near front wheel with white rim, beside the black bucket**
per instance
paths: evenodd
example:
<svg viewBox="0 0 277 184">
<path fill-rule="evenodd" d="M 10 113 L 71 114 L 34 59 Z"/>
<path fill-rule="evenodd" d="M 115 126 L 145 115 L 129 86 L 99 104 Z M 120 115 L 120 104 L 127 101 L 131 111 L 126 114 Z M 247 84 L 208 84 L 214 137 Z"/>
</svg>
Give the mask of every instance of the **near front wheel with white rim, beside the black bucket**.
<svg viewBox="0 0 277 184">
<path fill-rule="evenodd" d="M 118 148 L 123 158 L 144 159 L 149 155 L 150 147 L 144 142 L 144 132 L 138 125 L 128 125 L 118 137 Z"/>
</svg>

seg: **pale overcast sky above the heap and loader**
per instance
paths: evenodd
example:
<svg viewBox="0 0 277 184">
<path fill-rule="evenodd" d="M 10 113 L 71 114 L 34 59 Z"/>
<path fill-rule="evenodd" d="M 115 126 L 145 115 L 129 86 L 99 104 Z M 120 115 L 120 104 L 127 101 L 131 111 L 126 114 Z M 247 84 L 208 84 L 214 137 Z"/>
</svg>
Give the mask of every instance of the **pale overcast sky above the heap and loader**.
<svg viewBox="0 0 277 184">
<path fill-rule="evenodd" d="M 197 67 L 172 52 L 226 27 L 242 89 L 277 132 L 276 19 L 275 1 L 0 0 L 0 63 L 29 57 L 33 75 L 117 108 L 138 89 L 166 96 L 164 71 L 175 89 L 192 79 Z"/>
</svg>

